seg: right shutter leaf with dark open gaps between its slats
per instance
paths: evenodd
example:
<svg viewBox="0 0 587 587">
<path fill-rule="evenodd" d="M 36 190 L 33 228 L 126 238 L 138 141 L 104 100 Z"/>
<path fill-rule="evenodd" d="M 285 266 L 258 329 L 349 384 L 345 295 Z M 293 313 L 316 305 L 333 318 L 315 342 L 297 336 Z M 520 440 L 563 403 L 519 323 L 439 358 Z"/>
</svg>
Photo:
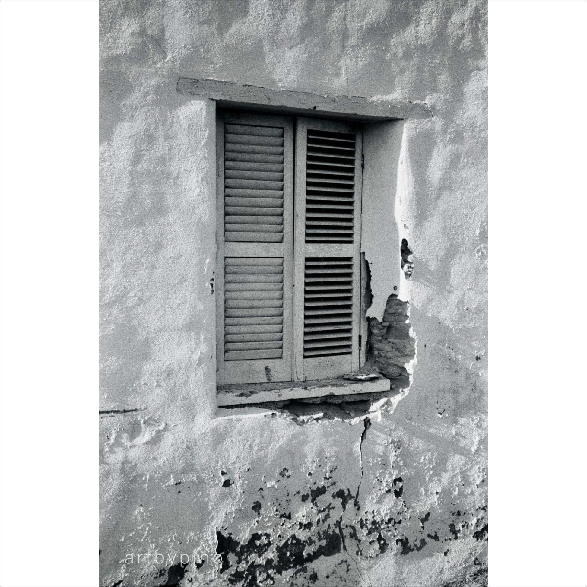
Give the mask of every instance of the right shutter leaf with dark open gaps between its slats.
<svg viewBox="0 0 587 587">
<path fill-rule="evenodd" d="M 297 120 L 294 380 L 359 367 L 361 156 L 357 127 Z"/>
</svg>

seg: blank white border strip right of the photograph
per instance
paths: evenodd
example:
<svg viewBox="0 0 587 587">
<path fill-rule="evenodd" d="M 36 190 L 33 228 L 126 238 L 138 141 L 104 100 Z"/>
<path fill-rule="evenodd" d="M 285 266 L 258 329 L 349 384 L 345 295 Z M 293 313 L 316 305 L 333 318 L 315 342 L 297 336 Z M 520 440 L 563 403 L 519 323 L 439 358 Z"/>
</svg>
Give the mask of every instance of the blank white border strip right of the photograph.
<svg viewBox="0 0 587 587">
<path fill-rule="evenodd" d="M 585 585 L 585 2 L 489 6 L 489 584 Z"/>
</svg>

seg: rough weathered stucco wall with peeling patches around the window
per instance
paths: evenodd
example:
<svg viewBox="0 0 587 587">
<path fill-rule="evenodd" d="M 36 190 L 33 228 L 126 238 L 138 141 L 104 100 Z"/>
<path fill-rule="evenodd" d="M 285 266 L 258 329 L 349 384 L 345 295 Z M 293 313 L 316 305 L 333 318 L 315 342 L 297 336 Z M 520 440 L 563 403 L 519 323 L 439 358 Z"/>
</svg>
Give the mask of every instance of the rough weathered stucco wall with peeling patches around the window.
<svg viewBox="0 0 587 587">
<path fill-rule="evenodd" d="M 100 10 L 102 584 L 483 584 L 485 3 Z M 389 218 L 414 254 L 401 401 L 217 416 L 214 104 L 180 76 L 433 109 L 403 125 Z"/>
</svg>

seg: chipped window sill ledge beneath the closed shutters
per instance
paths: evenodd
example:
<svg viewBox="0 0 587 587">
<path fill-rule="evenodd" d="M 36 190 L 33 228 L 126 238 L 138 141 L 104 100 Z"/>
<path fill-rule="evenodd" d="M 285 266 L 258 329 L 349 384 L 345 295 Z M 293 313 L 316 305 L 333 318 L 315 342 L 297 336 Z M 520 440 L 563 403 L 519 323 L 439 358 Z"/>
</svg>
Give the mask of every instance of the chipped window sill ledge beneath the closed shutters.
<svg viewBox="0 0 587 587">
<path fill-rule="evenodd" d="M 349 381 L 338 377 L 318 381 L 249 383 L 218 387 L 217 402 L 218 407 L 225 407 L 265 402 L 284 402 L 308 397 L 387 392 L 389 390 L 389 379 L 386 379 L 383 375 L 370 381 Z"/>
</svg>

